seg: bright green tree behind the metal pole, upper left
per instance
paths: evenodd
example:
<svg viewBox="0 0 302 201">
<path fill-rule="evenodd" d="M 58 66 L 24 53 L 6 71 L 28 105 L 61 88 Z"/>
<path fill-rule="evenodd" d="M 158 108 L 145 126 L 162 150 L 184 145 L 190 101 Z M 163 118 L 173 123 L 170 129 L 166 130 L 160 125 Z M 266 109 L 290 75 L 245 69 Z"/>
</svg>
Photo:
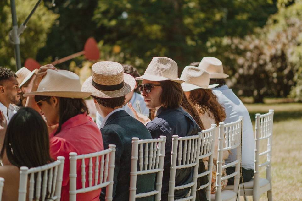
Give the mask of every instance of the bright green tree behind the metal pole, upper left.
<svg viewBox="0 0 302 201">
<path fill-rule="evenodd" d="M 36 1 L 16 0 L 18 24 L 24 22 Z M 28 57 L 36 57 L 38 50 L 45 45 L 47 34 L 53 23 L 58 18 L 57 14 L 48 10 L 44 3 L 36 9 L 27 24 L 27 28 L 20 36 L 21 63 Z M 12 29 L 12 17 L 9 0 L 0 2 L 0 65 L 15 69 L 14 45 L 10 43 L 8 33 Z"/>
</svg>

